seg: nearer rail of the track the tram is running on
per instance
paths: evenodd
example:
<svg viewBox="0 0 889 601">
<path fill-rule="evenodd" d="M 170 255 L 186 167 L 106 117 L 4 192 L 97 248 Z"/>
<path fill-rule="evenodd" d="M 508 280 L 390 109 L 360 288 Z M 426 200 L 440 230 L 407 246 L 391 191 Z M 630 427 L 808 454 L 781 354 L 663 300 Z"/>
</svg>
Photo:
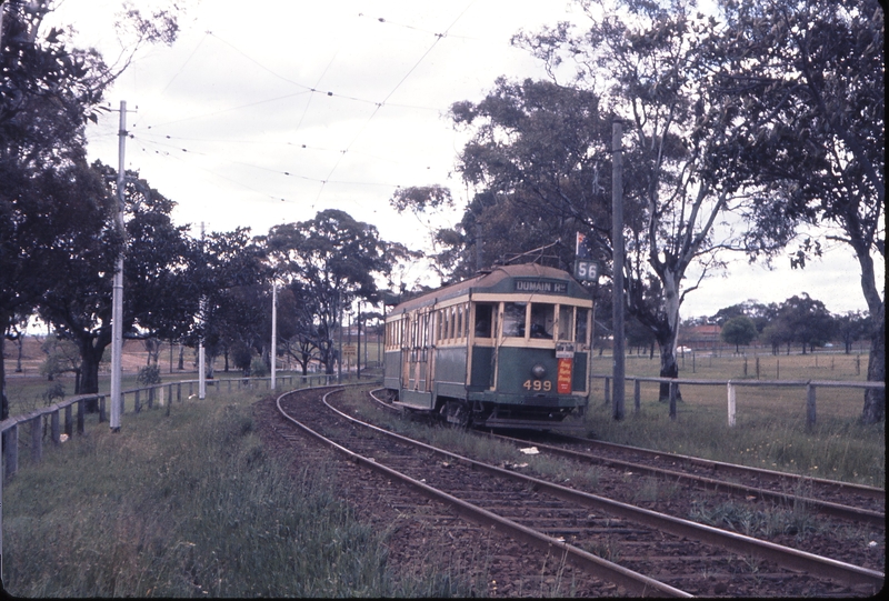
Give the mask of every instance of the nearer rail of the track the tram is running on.
<svg viewBox="0 0 889 601">
<path fill-rule="evenodd" d="M 511 437 L 503 437 L 501 434 L 489 434 L 493 438 L 499 438 L 502 440 L 508 440 L 510 442 L 518 442 L 518 443 L 527 443 L 527 441 L 515 439 Z M 731 494 L 738 497 L 746 497 L 749 494 L 756 494 L 760 499 L 775 501 L 779 503 L 787 503 L 792 504 L 797 501 L 802 501 L 806 503 L 807 507 L 815 509 L 819 513 L 823 513 L 826 515 L 832 515 L 835 518 L 842 518 L 846 520 L 856 520 L 865 523 L 869 523 L 871 525 L 878 527 L 886 527 L 886 513 L 879 511 L 872 511 L 868 509 L 858 509 L 849 505 L 843 505 L 840 503 L 833 503 L 830 501 L 821 501 L 819 499 L 812 499 L 809 497 L 797 497 L 792 494 L 787 494 L 783 492 L 775 492 L 771 490 L 760 489 L 756 487 L 748 487 L 745 484 L 737 484 L 735 482 L 727 482 L 725 480 L 717 480 L 715 478 L 707 478 L 703 475 L 696 475 L 691 473 L 679 472 L 675 470 L 667 470 L 665 468 L 652 468 L 650 465 L 645 465 L 642 463 L 633 463 L 631 461 L 623 461 L 621 459 L 608 459 L 608 458 L 599 458 L 593 457 L 581 451 L 572 451 L 571 449 L 562 449 L 561 447 L 553 447 L 551 444 L 535 442 L 535 447 L 538 449 L 542 449 L 549 453 L 565 457 L 568 459 L 573 459 L 577 461 L 583 461 L 587 463 L 595 463 L 597 465 L 606 465 L 606 467 L 617 467 L 622 469 L 628 469 L 638 473 L 642 473 L 646 475 L 652 475 L 657 478 L 666 478 L 666 479 L 673 479 L 676 481 L 686 481 L 701 490 L 709 490 L 709 491 L 720 491 L 720 492 L 729 492 Z"/>
</svg>

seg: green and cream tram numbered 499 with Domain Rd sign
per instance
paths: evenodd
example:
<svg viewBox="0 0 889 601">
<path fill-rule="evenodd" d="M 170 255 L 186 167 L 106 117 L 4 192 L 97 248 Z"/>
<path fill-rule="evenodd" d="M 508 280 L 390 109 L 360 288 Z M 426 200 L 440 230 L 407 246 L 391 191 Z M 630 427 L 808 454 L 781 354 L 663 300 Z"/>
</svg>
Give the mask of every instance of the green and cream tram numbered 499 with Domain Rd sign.
<svg viewBox="0 0 889 601">
<path fill-rule="evenodd" d="M 394 404 L 448 422 L 551 428 L 589 402 L 592 298 L 568 272 L 496 267 L 386 318 Z"/>
</svg>

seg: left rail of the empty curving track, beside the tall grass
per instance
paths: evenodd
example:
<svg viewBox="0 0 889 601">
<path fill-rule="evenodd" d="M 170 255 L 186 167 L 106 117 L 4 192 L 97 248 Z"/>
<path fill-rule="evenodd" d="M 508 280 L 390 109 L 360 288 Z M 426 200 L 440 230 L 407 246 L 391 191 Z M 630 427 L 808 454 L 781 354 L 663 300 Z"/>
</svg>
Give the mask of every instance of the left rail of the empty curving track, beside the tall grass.
<svg viewBox="0 0 889 601">
<path fill-rule="evenodd" d="M 318 389 L 314 390 L 317 391 Z M 332 390 L 327 394 L 324 394 L 323 397 L 324 404 L 328 404 L 327 398 L 330 394 L 339 392 L 340 390 Z M 568 544 L 565 541 L 560 541 L 556 538 L 543 534 L 542 532 L 538 532 L 533 529 L 525 527 L 518 522 L 497 515 L 496 513 L 492 513 L 486 509 L 468 503 L 461 499 L 458 499 L 457 497 L 448 494 L 444 491 L 434 489 L 426 484 L 424 482 L 420 482 L 419 480 L 410 478 L 387 465 L 378 463 L 376 460 L 371 458 L 362 457 L 358 453 L 350 451 L 346 447 L 338 444 L 337 442 L 328 439 L 323 434 L 316 432 L 308 425 L 293 419 L 287 413 L 287 411 L 284 411 L 284 409 L 281 407 L 281 400 L 284 397 L 288 397 L 296 392 L 304 392 L 304 391 L 290 391 L 278 397 L 277 405 L 281 415 L 283 415 L 287 420 L 292 422 L 296 427 L 300 428 L 311 437 L 314 437 L 322 443 L 343 453 L 347 458 L 349 458 L 349 460 L 353 461 L 354 463 L 371 469 L 373 471 L 377 471 L 379 473 L 382 473 L 388 478 L 392 478 L 393 480 L 398 480 L 411 487 L 412 489 L 421 492 L 422 494 L 424 494 L 430 499 L 441 501 L 452 507 L 457 511 L 457 513 L 466 520 L 472 521 L 486 528 L 491 528 L 492 530 L 498 530 L 500 532 L 503 532 L 516 540 L 531 544 L 532 547 L 548 553 L 552 552 L 553 550 L 559 550 L 561 551 L 565 559 L 571 561 L 572 563 L 588 571 L 592 575 L 602 578 L 605 580 L 608 580 L 609 582 L 613 582 L 615 584 L 623 587 L 630 594 L 640 597 L 679 597 L 679 598 L 693 597 L 687 593 L 686 591 L 670 587 L 669 584 L 655 580 L 650 577 L 640 574 L 638 572 L 618 565 L 617 563 L 612 563 L 602 558 L 593 555 L 592 553 L 589 553 L 587 551 L 583 551 L 582 549 Z M 328 407 L 330 407 L 333 411 L 353 422 L 358 422 L 360 424 L 369 425 L 373 429 L 377 429 L 371 424 L 366 424 L 364 422 L 354 420 L 354 418 L 346 415 L 336 408 L 332 408 L 330 404 L 328 404 Z M 386 432 L 384 430 L 381 429 L 377 430 Z"/>
</svg>

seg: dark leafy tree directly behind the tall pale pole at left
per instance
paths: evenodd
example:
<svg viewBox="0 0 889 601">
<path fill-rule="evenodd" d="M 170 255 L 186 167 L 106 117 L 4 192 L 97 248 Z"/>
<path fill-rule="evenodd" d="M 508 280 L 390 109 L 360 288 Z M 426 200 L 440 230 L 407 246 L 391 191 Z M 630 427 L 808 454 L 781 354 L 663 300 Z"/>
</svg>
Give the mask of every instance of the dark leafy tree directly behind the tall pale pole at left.
<svg viewBox="0 0 889 601">
<path fill-rule="evenodd" d="M 82 378 L 78 393 L 99 391 L 99 364 L 111 343 L 111 299 L 117 236 L 117 174 L 96 162 L 91 169 L 104 196 L 101 229 L 81 230 L 57 241 L 67 257 L 57 263 L 56 279 L 40 298 L 39 313 L 56 332 L 80 349 Z M 139 180 L 126 178 L 126 268 L 123 335 L 130 339 L 174 339 L 188 332 L 198 311 L 193 293 L 194 252 L 186 227 L 170 219 L 174 202 Z M 97 203 L 100 200 L 96 200 Z M 110 206 L 110 207 L 109 207 Z M 110 247 L 113 248 L 113 247 Z"/>
</svg>

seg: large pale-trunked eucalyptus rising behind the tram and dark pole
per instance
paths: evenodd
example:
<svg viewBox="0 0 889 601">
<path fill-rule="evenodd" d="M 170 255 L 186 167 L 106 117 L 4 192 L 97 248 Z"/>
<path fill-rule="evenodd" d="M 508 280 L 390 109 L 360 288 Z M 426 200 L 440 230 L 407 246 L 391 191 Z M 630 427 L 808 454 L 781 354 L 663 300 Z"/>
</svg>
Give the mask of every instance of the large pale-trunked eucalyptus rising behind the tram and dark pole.
<svg viewBox="0 0 889 601">
<path fill-rule="evenodd" d="M 792 231 L 748 229 L 756 191 L 718 177 L 709 160 L 735 127 L 731 100 L 707 86 L 710 20 L 691 3 L 581 6 L 590 26 L 579 33 L 560 23 L 515 38 L 545 61 L 550 81 L 500 79 L 481 102 L 452 106 L 455 123 L 473 136 L 458 170 L 478 192 L 451 238 L 471 243 L 473 221 L 488 213 L 515 232 L 496 237 L 501 244 L 526 240 L 536 221 L 550 237 L 585 231 L 597 258 L 610 259 L 611 123 L 621 119 L 628 310 L 657 339 L 660 374 L 676 378 L 686 294 L 723 264 L 723 251 L 773 253 Z M 569 61 L 577 69 L 562 82 Z M 698 279 L 687 284 L 692 266 Z"/>
</svg>

